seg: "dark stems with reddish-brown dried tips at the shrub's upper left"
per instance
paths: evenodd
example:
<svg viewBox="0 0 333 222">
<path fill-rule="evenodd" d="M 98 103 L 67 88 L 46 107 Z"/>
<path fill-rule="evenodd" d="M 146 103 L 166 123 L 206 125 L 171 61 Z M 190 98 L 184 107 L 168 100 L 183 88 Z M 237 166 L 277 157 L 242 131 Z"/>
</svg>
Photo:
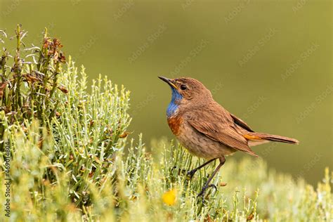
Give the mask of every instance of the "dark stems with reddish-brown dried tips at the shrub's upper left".
<svg viewBox="0 0 333 222">
<path fill-rule="evenodd" d="M 1 41 L 7 40 L 7 34 L 0 30 Z M 11 50 L 3 48 L 0 60 L 0 110 L 10 116 L 9 123 L 24 125 L 25 121 L 39 119 L 43 126 L 49 124 L 58 113 L 58 100 L 55 91 L 67 93 L 67 89 L 58 81 L 60 64 L 65 63 L 63 47 L 58 39 L 48 37 L 44 32 L 41 47 L 25 47 L 23 40 L 27 32 L 18 25 L 15 30 L 16 47 L 14 55 Z M 13 58 L 13 65 L 10 58 Z M 2 123 L 3 119 L 1 119 Z M 4 136 L 4 127 L 0 125 L 0 139 Z M 3 143 L 0 144 L 0 150 Z"/>
</svg>

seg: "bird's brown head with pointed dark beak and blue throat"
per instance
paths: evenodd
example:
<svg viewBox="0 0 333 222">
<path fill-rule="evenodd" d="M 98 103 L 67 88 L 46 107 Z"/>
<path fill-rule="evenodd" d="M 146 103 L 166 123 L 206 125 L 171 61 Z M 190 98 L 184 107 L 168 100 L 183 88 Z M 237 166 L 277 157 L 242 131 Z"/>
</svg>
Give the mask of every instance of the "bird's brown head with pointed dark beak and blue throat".
<svg viewBox="0 0 333 222">
<path fill-rule="evenodd" d="M 202 103 L 211 99 L 211 92 L 197 79 L 188 77 L 178 79 L 168 79 L 159 77 L 171 87 L 172 98 L 168 107 L 167 114 L 172 115 L 178 106 L 193 107 L 202 105 Z"/>
</svg>

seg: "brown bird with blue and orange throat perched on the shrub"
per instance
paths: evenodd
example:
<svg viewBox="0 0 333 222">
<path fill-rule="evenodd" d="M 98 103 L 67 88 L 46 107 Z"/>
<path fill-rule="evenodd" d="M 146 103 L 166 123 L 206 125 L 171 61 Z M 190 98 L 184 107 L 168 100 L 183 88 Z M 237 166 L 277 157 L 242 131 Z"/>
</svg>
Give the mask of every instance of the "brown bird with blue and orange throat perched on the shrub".
<svg viewBox="0 0 333 222">
<path fill-rule="evenodd" d="M 255 132 L 246 122 L 218 104 L 209 89 L 197 79 L 169 79 L 162 76 L 159 79 L 171 87 L 171 102 L 166 109 L 166 119 L 172 133 L 192 155 L 207 160 L 188 171 L 188 176 L 192 178 L 196 171 L 219 160 L 218 166 L 197 195 L 202 197 L 202 202 L 207 188 L 217 190 L 216 185 L 210 183 L 226 162 L 226 156 L 242 151 L 258 157 L 251 147 L 270 141 L 299 143 L 294 138 Z"/>
</svg>

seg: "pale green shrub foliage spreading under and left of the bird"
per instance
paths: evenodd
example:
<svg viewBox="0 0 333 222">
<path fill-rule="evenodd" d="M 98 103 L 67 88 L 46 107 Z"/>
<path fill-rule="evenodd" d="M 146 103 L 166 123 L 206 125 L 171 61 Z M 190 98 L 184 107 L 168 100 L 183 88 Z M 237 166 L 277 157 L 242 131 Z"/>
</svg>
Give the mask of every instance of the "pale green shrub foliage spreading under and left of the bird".
<svg viewBox="0 0 333 222">
<path fill-rule="evenodd" d="M 35 77 L 36 61 L 22 65 L 20 73 Z M 20 85 L 18 100 L 32 96 L 34 86 L 61 85 L 66 92 L 46 90 L 42 107 L 31 109 L 36 115 L 23 115 L 20 105 L 10 115 L 0 112 L 1 144 L 11 148 L 12 221 L 332 220 L 328 169 L 314 190 L 304 181 L 268 171 L 265 162 L 254 158 L 227 159 L 214 178 L 218 190 L 209 190 L 202 204 L 196 195 L 214 164 L 190 179 L 186 172 L 202 160 L 181 146 L 153 141 L 150 153 L 141 136 L 137 143 L 126 142 L 130 117 L 124 87 L 100 77 L 89 93 L 84 68 L 78 71 L 71 59 L 58 67 L 50 59 L 46 66 L 58 70 L 57 78 L 46 85 Z M 7 96 L 16 90 L 11 86 L 4 86 Z M 46 100 L 50 106 L 43 107 Z M 5 154 L 0 155 L 1 203 L 6 199 Z"/>
</svg>

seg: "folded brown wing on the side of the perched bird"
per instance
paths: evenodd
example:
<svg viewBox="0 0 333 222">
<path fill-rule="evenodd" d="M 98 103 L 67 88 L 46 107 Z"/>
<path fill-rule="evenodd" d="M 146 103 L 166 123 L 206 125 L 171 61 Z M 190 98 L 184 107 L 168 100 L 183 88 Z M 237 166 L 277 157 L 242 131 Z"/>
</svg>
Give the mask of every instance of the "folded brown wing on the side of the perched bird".
<svg viewBox="0 0 333 222">
<path fill-rule="evenodd" d="M 235 123 L 229 112 L 221 105 L 211 104 L 202 110 L 192 110 L 185 114 L 188 123 L 200 133 L 231 148 L 256 156 L 244 138 L 235 129 Z"/>
</svg>

